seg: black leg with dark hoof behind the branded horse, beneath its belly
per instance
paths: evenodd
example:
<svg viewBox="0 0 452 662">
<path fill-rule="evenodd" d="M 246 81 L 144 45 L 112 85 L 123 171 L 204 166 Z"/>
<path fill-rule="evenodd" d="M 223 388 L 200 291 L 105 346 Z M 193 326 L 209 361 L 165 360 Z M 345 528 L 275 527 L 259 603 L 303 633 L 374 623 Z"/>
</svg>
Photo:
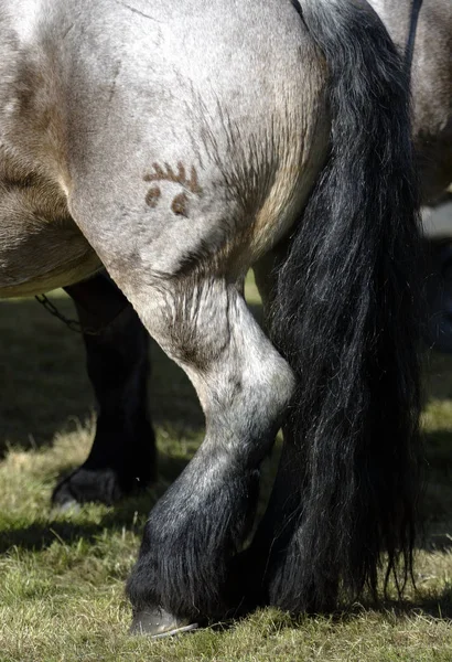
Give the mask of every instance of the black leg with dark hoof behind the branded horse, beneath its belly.
<svg viewBox="0 0 452 662">
<path fill-rule="evenodd" d="M 66 288 L 84 333 L 87 370 L 98 405 L 87 460 L 63 479 L 56 505 L 112 503 L 155 477 L 155 439 L 147 410 L 149 335 L 112 280 L 100 274 Z"/>
</svg>

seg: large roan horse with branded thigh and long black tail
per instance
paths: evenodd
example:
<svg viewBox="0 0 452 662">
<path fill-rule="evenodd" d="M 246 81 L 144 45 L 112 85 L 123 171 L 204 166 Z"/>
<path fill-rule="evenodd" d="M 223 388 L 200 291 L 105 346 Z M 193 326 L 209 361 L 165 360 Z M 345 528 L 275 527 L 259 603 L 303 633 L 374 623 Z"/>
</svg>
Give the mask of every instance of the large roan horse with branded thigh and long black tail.
<svg viewBox="0 0 452 662">
<path fill-rule="evenodd" d="M 331 609 L 376 596 L 381 565 L 406 578 L 418 193 L 407 71 L 375 11 L 14 0 L 0 34 L 0 296 L 104 265 L 205 413 L 147 521 L 132 631 Z M 243 297 L 250 267 L 268 334 Z"/>
</svg>

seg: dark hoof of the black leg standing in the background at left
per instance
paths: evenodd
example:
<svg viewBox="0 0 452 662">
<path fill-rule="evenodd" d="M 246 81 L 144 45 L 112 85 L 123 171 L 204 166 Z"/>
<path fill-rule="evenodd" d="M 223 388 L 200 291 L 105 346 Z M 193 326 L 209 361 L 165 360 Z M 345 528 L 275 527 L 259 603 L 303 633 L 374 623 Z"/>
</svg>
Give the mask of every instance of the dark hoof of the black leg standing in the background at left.
<svg viewBox="0 0 452 662">
<path fill-rule="evenodd" d="M 131 491 L 121 488 L 119 477 L 112 469 L 79 468 L 56 485 L 52 494 L 52 504 L 61 510 L 69 510 L 89 502 L 111 505 Z"/>
</svg>

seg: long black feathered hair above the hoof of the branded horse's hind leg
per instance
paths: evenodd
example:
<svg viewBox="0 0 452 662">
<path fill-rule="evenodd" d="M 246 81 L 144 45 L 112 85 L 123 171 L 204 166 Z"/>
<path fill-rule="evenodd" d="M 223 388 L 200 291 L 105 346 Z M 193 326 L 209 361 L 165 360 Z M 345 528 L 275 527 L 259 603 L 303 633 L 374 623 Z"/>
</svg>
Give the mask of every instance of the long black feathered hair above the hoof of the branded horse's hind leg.
<svg viewBox="0 0 452 662">
<path fill-rule="evenodd" d="M 205 460 L 195 456 L 197 469 L 189 466 L 150 513 L 128 581 L 136 613 L 158 605 L 198 622 L 222 618 L 237 604 L 228 578 L 252 522 L 259 474 L 236 473 L 220 456 Z"/>
</svg>

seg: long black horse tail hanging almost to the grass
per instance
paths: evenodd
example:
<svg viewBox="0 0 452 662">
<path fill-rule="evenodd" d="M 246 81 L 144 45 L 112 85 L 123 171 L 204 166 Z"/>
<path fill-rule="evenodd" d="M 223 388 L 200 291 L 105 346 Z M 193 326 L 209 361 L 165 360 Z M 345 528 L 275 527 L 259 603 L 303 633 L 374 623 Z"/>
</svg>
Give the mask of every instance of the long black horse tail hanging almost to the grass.
<svg viewBox="0 0 452 662">
<path fill-rule="evenodd" d="M 272 329 L 298 376 L 297 591 L 315 606 L 332 577 L 352 599 L 377 596 L 381 565 L 385 589 L 412 577 L 420 233 L 407 76 L 383 23 L 359 0 L 292 2 L 330 74 L 330 156 L 279 268 Z"/>
</svg>

